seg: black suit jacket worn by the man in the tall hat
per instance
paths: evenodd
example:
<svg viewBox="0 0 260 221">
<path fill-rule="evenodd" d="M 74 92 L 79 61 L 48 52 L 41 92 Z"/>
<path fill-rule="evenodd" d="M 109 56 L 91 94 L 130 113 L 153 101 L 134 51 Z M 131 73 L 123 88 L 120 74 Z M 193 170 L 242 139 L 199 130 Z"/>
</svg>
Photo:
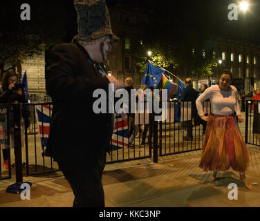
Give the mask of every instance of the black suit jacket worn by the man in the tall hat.
<svg viewBox="0 0 260 221">
<path fill-rule="evenodd" d="M 61 44 L 50 51 L 46 91 L 54 104 L 47 156 L 57 162 L 95 164 L 96 156 L 107 150 L 113 115 L 93 112 L 97 88 L 106 91 L 108 102 L 109 79 L 98 73 L 82 46 Z"/>
</svg>

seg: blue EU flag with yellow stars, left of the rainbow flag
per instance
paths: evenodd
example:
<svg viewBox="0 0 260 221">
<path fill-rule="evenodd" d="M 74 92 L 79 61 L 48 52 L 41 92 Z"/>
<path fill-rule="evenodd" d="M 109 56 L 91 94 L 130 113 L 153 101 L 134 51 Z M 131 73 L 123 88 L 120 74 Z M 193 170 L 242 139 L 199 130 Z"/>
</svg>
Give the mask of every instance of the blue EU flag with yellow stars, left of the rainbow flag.
<svg viewBox="0 0 260 221">
<path fill-rule="evenodd" d="M 145 70 L 145 76 L 143 77 L 141 84 L 146 84 L 147 88 L 150 86 L 157 88 L 158 84 L 160 83 L 160 79 L 162 79 L 162 74 L 164 73 L 165 70 L 157 68 L 148 61 L 147 69 Z"/>
</svg>

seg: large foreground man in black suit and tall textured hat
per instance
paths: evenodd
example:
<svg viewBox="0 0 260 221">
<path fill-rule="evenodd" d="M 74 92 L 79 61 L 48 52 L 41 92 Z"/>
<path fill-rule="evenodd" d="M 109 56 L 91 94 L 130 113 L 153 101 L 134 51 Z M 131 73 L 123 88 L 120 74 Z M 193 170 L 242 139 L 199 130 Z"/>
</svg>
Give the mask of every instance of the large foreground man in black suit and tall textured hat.
<svg viewBox="0 0 260 221">
<path fill-rule="evenodd" d="M 71 184 L 73 206 L 104 207 L 102 172 L 113 133 L 113 114 L 98 113 L 96 89 L 122 85 L 106 75 L 103 62 L 118 40 L 104 0 L 74 1 L 79 33 L 72 44 L 55 46 L 46 61 L 46 91 L 53 99 L 46 155 L 53 157 Z M 98 10 L 97 10 L 98 9 Z M 105 18 L 105 19 L 104 19 Z"/>
</svg>

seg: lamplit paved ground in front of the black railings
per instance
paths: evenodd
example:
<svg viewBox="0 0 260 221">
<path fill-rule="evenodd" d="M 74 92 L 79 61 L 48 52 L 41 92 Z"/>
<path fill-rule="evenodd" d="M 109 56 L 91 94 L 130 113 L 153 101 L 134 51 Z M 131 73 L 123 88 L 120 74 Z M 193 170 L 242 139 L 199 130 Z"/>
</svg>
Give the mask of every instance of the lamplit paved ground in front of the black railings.
<svg viewBox="0 0 260 221">
<path fill-rule="evenodd" d="M 250 183 L 260 184 L 260 151 L 249 148 Z M 219 173 L 211 182 L 212 173 L 198 167 L 201 151 L 160 157 L 157 164 L 150 159 L 107 164 L 103 185 L 106 206 L 260 206 L 260 189 L 245 189 L 235 171 Z M 0 181 L 0 207 L 71 207 L 73 193 L 61 172 L 24 177 L 32 182 L 30 200 L 6 193 L 13 180 Z M 228 184 L 238 185 L 238 200 L 228 199 Z"/>
</svg>

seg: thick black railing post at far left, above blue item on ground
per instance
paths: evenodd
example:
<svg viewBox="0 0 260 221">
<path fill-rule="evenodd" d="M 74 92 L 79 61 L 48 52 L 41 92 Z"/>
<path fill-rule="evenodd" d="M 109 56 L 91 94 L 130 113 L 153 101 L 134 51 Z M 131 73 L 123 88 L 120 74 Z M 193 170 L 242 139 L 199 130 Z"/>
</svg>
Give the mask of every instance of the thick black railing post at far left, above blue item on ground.
<svg viewBox="0 0 260 221">
<path fill-rule="evenodd" d="M 15 175 L 16 182 L 23 182 L 21 162 L 21 104 L 14 104 L 14 133 L 15 133 Z M 12 116 L 11 116 L 12 117 Z"/>
</svg>

